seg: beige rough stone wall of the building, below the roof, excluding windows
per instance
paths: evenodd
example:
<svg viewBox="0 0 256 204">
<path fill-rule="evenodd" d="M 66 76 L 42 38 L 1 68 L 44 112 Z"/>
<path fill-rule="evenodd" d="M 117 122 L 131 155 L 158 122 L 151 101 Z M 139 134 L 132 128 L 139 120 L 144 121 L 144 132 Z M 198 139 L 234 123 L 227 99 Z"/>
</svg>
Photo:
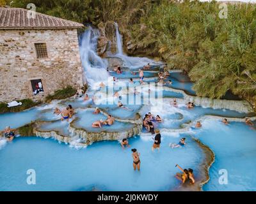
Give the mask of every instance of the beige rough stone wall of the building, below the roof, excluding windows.
<svg viewBox="0 0 256 204">
<path fill-rule="evenodd" d="M 43 99 L 67 85 L 83 86 L 76 29 L 0 30 L 0 101 Z M 35 43 L 46 43 L 48 57 L 37 59 Z M 31 80 L 44 92 L 33 96 Z"/>
</svg>

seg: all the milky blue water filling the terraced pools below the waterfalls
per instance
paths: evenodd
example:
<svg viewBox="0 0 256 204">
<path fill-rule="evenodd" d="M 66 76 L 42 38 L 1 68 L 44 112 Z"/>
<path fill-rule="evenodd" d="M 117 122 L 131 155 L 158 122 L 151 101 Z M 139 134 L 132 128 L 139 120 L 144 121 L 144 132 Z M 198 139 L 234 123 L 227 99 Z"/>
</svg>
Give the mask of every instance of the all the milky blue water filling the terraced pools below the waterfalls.
<svg viewBox="0 0 256 204">
<path fill-rule="evenodd" d="M 136 69 L 134 69 L 136 70 Z M 113 74 L 115 75 L 115 74 Z M 145 71 L 145 81 L 156 82 L 156 72 Z M 69 123 L 61 122 L 60 115 L 54 115 L 55 107 L 65 108 L 68 104 L 76 108 L 76 119 L 72 125 L 76 128 L 83 128 L 87 131 L 99 132 L 123 132 L 134 127 L 129 122 L 118 122 L 112 126 L 92 128 L 96 120 L 106 120 L 102 113 L 95 115 L 93 110 L 86 110 L 88 106 L 99 107 L 113 117 L 120 119 L 134 120 L 141 113 L 142 117 L 148 112 L 160 115 L 163 122 L 154 122 L 154 127 L 159 129 L 180 129 L 184 124 L 200 120 L 202 128 L 191 129 L 187 133 L 162 133 L 161 151 L 151 152 L 151 136 L 137 136 L 129 140 L 132 147 L 141 153 L 141 172 L 132 170 L 131 149 L 122 150 L 116 142 L 97 142 L 86 149 L 72 149 L 68 145 L 58 143 L 52 139 L 42 138 L 15 138 L 13 142 L 6 143 L 0 140 L 0 191 L 91 191 L 94 187 L 103 191 L 168 191 L 180 186 L 180 182 L 174 178 L 179 172 L 175 163 L 184 168 L 193 168 L 195 177 L 198 179 L 200 164 L 204 161 L 204 154 L 197 143 L 190 136 L 199 138 L 201 142 L 208 145 L 216 154 L 216 161 L 210 169 L 210 181 L 204 186 L 205 191 L 255 191 L 256 179 L 254 172 L 256 168 L 255 140 L 256 131 L 250 129 L 242 122 L 231 122 L 228 126 L 223 125 L 216 119 L 204 119 L 204 115 L 218 115 L 220 117 L 244 118 L 247 113 L 240 113 L 232 110 L 202 108 L 196 106 L 192 110 L 186 105 L 179 104 L 175 108 L 167 100 L 163 108 L 140 104 L 128 104 L 132 99 L 135 102 L 142 102 L 150 94 L 163 96 L 163 98 L 183 98 L 183 94 L 172 91 L 148 92 L 147 87 L 143 94 L 125 94 L 122 92 L 128 84 L 130 77 L 137 78 L 138 75 L 131 75 L 124 71 L 122 75 L 116 75 L 119 82 L 114 84 L 115 91 L 120 91 L 122 98 L 102 99 L 102 103 L 92 101 L 95 91 L 88 90 L 89 101 L 79 99 L 66 99 L 63 101 L 52 101 L 49 105 L 31 108 L 20 113 L 0 114 L 0 129 L 6 126 L 19 128 L 34 120 L 46 121 L 38 129 L 42 131 L 58 131 L 61 135 L 70 136 L 68 131 Z M 134 81 L 136 80 L 134 79 Z M 180 73 L 171 73 L 168 78 L 172 80 L 175 89 L 182 89 L 189 94 L 195 94 L 189 78 Z M 124 80 L 124 81 L 123 81 Z M 124 82 L 124 83 L 123 83 Z M 137 84 L 138 85 L 138 84 Z M 106 92 L 107 87 L 101 89 Z M 230 95 L 232 98 L 233 96 Z M 112 101 L 114 103 L 109 103 Z M 125 107 L 118 108 L 117 102 L 122 101 Z M 71 120 L 70 120 L 71 122 Z M 145 135 L 145 134 L 144 134 Z M 183 149 L 170 149 L 169 143 L 178 143 L 180 138 L 186 136 L 188 146 Z M 4 145 L 6 144 L 6 145 Z M 29 168 L 36 170 L 36 185 L 26 184 L 26 171 Z M 220 185 L 219 171 L 225 169 L 228 172 L 228 184 Z M 97 170 L 97 171 L 96 171 Z M 157 175 L 157 177 L 156 177 Z M 54 180 L 54 182 L 52 182 Z"/>
</svg>

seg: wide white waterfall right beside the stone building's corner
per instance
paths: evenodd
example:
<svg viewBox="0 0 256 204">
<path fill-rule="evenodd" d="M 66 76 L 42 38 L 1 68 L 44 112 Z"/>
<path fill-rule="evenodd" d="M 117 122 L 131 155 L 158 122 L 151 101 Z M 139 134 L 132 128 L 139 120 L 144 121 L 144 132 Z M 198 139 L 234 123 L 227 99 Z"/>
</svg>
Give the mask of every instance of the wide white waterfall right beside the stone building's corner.
<svg viewBox="0 0 256 204">
<path fill-rule="evenodd" d="M 106 70 L 107 62 L 97 55 L 97 41 L 99 30 L 89 27 L 79 39 L 79 50 L 83 66 L 83 78 L 90 86 L 106 82 L 109 74 Z"/>
</svg>

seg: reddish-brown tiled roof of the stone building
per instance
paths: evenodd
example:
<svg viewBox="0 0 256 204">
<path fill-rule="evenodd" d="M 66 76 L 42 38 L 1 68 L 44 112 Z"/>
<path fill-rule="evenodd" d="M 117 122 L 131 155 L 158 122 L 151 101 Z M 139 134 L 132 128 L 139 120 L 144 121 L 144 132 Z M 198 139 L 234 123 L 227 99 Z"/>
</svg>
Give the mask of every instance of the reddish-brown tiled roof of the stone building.
<svg viewBox="0 0 256 204">
<path fill-rule="evenodd" d="M 0 29 L 61 29 L 83 27 L 83 24 L 38 12 L 35 13 L 35 18 L 28 18 L 28 11 L 23 8 L 0 7 Z"/>
</svg>

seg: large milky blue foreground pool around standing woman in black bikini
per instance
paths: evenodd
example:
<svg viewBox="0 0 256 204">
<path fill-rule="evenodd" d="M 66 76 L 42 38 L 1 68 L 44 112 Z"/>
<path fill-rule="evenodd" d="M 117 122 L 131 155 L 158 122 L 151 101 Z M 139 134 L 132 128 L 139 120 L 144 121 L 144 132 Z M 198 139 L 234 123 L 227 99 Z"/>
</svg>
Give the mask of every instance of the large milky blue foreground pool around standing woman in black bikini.
<svg viewBox="0 0 256 204">
<path fill-rule="evenodd" d="M 152 139 L 132 138 L 141 153 L 141 171 L 132 167 L 131 148 L 118 142 L 97 142 L 86 149 L 43 138 L 16 138 L 0 151 L 0 191 L 168 191 L 180 185 L 175 163 L 193 168 L 204 159 L 202 150 L 188 137 L 188 147 L 170 149 L 177 135 L 163 135 L 160 152 L 151 152 Z M 189 161 L 189 164 L 188 164 Z M 36 185 L 28 185 L 26 171 L 36 171 Z"/>
</svg>

